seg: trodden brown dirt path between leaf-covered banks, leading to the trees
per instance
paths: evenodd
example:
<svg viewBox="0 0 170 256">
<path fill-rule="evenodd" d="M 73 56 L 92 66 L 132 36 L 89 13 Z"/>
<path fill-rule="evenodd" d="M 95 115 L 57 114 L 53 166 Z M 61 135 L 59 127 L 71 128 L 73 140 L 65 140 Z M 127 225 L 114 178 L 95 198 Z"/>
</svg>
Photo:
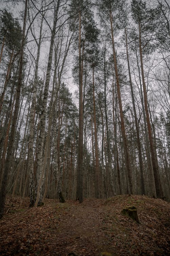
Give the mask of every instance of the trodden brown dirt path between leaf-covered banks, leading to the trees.
<svg viewBox="0 0 170 256">
<path fill-rule="evenodd" d="M 61 239 L 58 240 L 56 250 L 52 250 L 54 255 L 68 255 L 71 252 L 76 255 L 100 254 L 106 241 L 103 234 L 104 201 L 98 205 L 94 201 L 89 201 L 88 205 L 75 204 L 71 207 L 68 217 L 56 230 Z"/>
</svg>

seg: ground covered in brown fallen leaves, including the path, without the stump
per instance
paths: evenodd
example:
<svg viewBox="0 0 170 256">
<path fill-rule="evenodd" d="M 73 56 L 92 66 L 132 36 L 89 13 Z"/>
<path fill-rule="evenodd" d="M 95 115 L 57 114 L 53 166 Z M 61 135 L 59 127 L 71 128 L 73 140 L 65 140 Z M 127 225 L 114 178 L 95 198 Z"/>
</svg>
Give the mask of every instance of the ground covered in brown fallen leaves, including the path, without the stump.
<svg viewBox="0 0 170 256">
<path fill-rule="evenodd" d="M 121 214 L 137 208 L 140 224 Z M 170 204 L 121 195 L 29 208 L 29 198 L 6 199 L 0 219 L 0 255 L 170 255 Z"/>
</svg>

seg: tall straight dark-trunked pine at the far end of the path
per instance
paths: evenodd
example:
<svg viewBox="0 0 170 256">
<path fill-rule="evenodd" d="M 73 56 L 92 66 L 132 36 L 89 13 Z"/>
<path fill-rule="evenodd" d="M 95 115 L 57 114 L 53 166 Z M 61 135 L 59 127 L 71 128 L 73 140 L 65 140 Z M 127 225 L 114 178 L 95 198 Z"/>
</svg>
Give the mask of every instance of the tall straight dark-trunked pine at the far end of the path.
<svg viewBox="0 0 170 256">
<path fill-rule="evenodd" d="M 90 1 L 72 0 L 71 8 L 69 10 L 70 13 L 74 13 L 76 15 L 71 23 L 71 29 L 73 29 L 75 32 L 78 30 L 79 35 L 79 142 L 76 198 L 80 203 L 83 202 L 83 60 L 86 35 L 88 39 L 89 34 L 91 33 L 90 30 L 88 30 L 89 17 L 91 16 L 89 4 Z M 85 32 L 85 38 L 83 40 L 81 27 L 83 27 Z"/>
</svg>

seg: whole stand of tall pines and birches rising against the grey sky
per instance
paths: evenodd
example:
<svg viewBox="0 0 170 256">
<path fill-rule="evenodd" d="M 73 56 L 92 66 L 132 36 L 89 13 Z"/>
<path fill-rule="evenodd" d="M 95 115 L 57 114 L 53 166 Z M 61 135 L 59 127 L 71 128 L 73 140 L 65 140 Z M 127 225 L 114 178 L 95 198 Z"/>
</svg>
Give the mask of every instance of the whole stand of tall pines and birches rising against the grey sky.
<svg viewBox="0 0 170 256">
<path fill-rule="evenodd" d="M 167 0 L 0 1 L 5 198 L 170 200 Z"/>
</svg>

